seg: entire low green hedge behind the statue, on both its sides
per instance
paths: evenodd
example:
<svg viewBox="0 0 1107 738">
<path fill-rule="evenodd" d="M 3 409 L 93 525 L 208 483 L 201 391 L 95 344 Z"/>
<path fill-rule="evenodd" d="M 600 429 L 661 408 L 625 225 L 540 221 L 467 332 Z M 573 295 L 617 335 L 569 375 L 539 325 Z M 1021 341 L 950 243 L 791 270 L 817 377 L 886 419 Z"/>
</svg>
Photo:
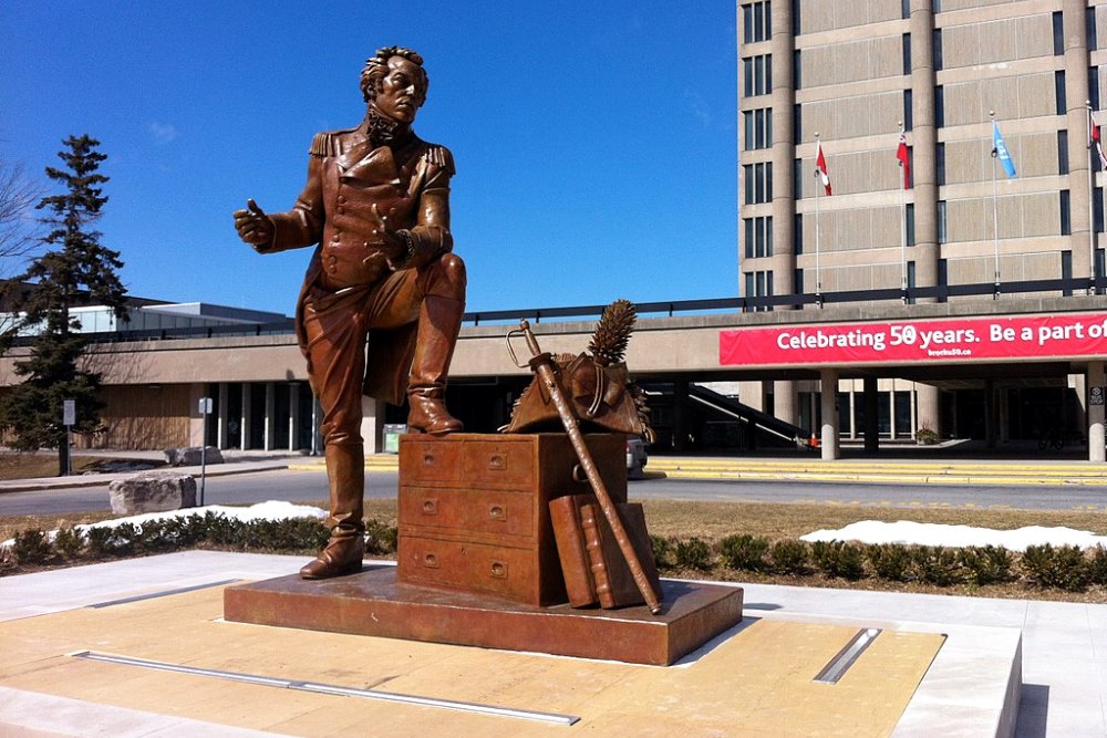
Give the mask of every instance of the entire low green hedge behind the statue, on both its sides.
<svg viewBox="0 0 1107 738">
<path fill-rule="evenodd" d="M 8 550 L 0 550 L 0 573 L 19 567 L 101 560 L 161 553 L 196 545 L 236 551 L 314 552 L 329 532 L 310 518 L 241 521 L 193 514 L 114 528 L 62 528 L 49 540 L 38 529 L 17 533 Z M 365 522 L 365 553 L 395 552 L 396 529 L 377 520 Z M 1030 586 L 1080 592 L 1107 586 L 1107 549 L 1083 551 L 1072 545 L 1032 545 L 1013 553 L 994 545 L 962 549 L 882 543 L 863 545 L 847 541 L 806 543 L 762 536 L 726 536 L 717 542 L 701 538 L 651 536 L 658 568 L 662 571 L 706 572 L 723 568 L 734 572 L 818 575 L 825 579 L 919 582 L 935 586 L 984 586 L 1023 582 Z"/>
</svg>

